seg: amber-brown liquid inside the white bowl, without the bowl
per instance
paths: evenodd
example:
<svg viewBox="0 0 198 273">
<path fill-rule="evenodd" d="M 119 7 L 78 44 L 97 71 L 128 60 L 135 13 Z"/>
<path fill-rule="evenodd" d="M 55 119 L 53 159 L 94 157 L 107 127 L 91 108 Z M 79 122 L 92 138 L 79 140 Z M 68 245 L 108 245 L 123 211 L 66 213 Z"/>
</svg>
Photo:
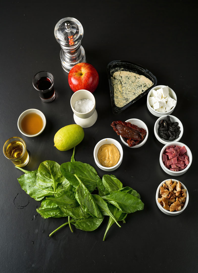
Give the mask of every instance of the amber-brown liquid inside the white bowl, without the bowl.
<svg viewBox="0 0 198 273">
<path fill-rule="evenodd" d="M 43 128 L 42 117 L 37 113 L 29 113 L 22 118 L 21 128 L 28 135 L 35 135 Z"/>
</svg>

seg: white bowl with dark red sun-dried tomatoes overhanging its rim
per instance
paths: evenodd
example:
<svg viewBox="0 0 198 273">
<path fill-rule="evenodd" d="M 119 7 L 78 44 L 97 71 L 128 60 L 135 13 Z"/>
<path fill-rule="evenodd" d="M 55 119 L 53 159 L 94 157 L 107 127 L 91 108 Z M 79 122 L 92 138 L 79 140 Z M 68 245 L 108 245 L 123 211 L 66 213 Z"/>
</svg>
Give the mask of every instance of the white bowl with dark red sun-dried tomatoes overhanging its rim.
<svg viewBox="0 0 198 273">
<path fill-rule="evenodd" d="M 120 136 L 122 143 L 129 148 L 141 147 L 146 143 L 149 135 L 146 124 L 137 118 L 113 121 L 111 127 Z"/>
</svg>

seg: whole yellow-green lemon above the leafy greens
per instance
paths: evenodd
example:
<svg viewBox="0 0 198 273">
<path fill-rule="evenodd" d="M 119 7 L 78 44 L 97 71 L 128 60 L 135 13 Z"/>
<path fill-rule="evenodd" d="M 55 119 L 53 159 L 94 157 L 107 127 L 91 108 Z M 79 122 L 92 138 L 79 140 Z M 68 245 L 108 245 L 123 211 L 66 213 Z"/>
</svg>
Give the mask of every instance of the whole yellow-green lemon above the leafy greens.
<svg viewBox="0 0 198 273">
<path fill-rule="evenodd" d="M 54 146 L 60 151 L 67 151 L 78 145 L 84 138 L 84 131 L 80 125 L 67 125 L 55 134 Z"/>
</svg>

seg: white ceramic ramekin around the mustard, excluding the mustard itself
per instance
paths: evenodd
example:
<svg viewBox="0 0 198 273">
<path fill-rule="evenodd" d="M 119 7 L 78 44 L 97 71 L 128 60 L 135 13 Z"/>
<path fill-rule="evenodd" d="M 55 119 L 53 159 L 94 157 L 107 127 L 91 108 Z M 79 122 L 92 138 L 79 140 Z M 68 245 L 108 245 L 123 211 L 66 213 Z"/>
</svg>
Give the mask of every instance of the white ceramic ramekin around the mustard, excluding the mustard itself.
<svg viewBox="0 0 198 273">
<path fill-rule="evenodd" d="M 99 161 L 98 161 L 98 158 L 97 158 L 97 153 L 98 153 L 98 150 L 99 148 L 103 145 L 103 144 L 114 144 L 117 149 L 119 150 L 119 153 L 120 153 L 120 158 L 119 158 L 119 161 L 117 162 L 117 164 L 113 167 L 104 167 L 102 166 Z M 114 171 L 116 170 L 122 163 L 122 159 L 123 159 L 123 150 L 122 150 L 122 146 L 121 144 L 117 141 L 117 140 L 114 140 L 113 138 L 104 138 L 102 140 L 100 140 L 95 148 L 94 148 L 94 151 L 93 151 L 93 156 L 94 156 L 94 160 L 95 160 L 95 163 L 96 165 L 103 171 Z"/>
</svg>

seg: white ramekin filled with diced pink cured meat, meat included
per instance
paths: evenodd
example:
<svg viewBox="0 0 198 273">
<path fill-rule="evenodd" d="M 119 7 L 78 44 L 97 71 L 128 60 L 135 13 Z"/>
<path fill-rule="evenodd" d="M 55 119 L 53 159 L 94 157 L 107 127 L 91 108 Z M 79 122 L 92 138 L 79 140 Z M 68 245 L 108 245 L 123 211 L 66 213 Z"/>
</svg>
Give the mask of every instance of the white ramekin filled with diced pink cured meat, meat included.
<svg viewBox="0 0 198 273">
<path fill-rule="evenodd" d="M 180 176 L 187 172 L 192 159 L 192 153 L 187 145 L 181 142 L 171 142 L 161 149 L 159 163 L 167 174 Z"/>
</svg>

